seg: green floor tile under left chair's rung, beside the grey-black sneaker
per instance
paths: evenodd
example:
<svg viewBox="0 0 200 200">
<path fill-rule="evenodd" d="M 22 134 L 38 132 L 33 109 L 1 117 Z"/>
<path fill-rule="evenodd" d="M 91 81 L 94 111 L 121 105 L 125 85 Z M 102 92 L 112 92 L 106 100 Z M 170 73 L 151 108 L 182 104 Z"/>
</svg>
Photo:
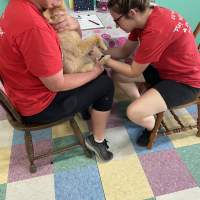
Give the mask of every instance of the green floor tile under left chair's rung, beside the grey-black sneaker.
<svg viewBox="0 0 200 200">
<path fill-rule="evenodd" d="M 56 138 L 53 141 L 54 148 L 63 147 L 75 141 L 75 136 Z M 75 147 L 63 154 L 56 155 L 53 160 L 55 172 L 83 168 L 88 165 L 96 165 L 95 157 L 92 159 L 87 158 L 81 147 Z"/>
</svg>

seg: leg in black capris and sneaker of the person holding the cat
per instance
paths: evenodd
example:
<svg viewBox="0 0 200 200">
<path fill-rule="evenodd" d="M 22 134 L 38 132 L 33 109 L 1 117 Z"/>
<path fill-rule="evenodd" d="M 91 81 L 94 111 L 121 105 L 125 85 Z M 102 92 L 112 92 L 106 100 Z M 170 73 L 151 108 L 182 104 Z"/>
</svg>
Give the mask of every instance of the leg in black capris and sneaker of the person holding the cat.
<svg viewBox="0 0 200 200">
<path fill-rule="evenodd" d="M 73 115 L 92 106 L 92 132 L 85 140 L 87 147 L 102 160 L 110 160 L 105 126 L 112 107 L 114 85 L 106 73 L 74 90 L 59 92 L 53 102 L 39 114 L 24 117 L 26 123 L 48 123 Z"/>
</svg>

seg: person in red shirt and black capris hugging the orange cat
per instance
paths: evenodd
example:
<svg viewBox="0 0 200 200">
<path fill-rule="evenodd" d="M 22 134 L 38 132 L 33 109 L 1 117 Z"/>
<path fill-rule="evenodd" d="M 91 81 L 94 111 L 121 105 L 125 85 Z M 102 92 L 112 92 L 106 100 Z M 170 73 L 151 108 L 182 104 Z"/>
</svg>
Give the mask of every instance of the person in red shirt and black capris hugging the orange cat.
<svg viewBox="0 0 200 200">
<path fill-rule="evenodd" d="M 49 24 L 42 13 L 61 0 L 10 0 L 0 18 L 0 76 L 5 91 L 24 123 L 48 123 L 91 110 L 88 148 L 102 160 L 111 160 L 104 139 L 114 86 L 100 65 L 86 73 L 63 74 L 57 31 L 80 33 L 78 22 L 61 17 Z M 58 15 L 65 16 L 62 12 Z"/>
</svg>

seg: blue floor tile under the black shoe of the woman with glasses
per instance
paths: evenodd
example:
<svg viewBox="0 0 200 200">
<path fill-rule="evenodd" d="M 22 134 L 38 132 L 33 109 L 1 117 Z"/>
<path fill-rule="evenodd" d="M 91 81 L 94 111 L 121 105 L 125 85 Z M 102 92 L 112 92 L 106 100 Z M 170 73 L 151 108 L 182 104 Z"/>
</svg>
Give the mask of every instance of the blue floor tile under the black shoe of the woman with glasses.
<svg viewBox="0 0 200 200">
<path fill-rule="evenodd" d="M 138 146 L 136 144 L 136 139 L 139 137 L 139 135 L 142 134 L 142 131 L 144 129 L 142 127 L 140 127 L 134 123 L 128 122 L 128 121 L 125 122 L 125 127 L 128 131 L 128 134 L 129 134 L 130 140 L 134 146 L 134 149 L 135 149 L 136 153 L 139 155 L 144 155 L 144 154 L 151 153 L 151 152 L 163 151 L 163 150 L 168 150 L 168 149 L 174 148 L 169 137 L 160 135 L 160 134 L 158 134 L 156 141 L 153 144 L 152 149 L 149 150 L 146 147 Z"/>
</svg>

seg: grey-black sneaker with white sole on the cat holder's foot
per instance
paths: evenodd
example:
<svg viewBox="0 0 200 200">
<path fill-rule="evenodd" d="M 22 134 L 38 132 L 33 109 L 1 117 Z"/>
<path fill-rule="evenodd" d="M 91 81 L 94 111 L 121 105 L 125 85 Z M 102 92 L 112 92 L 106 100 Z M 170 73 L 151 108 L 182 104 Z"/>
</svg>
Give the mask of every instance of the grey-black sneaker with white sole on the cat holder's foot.
<svg viewBox="0 0 200 200">
<path fill-rule="evenodd" d="M 93 135 L 89 135 L 85 138 L 85 145 L 89 150 L 94 151 L 103 161 L 109 161 L 113 158 L 113 153 L 107 150 L 109 146 L 107 145 L 106 140 L 98 143 L 94 141 Z"/>
</svg>

